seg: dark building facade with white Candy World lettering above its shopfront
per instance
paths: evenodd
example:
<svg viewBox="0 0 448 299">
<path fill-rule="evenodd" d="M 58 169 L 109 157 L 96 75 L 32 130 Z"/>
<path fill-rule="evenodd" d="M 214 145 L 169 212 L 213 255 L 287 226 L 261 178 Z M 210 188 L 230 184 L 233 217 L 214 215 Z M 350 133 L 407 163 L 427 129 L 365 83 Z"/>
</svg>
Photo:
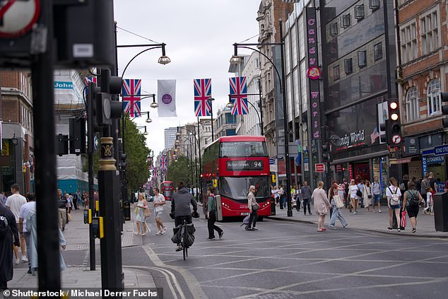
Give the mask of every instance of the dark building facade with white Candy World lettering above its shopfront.
<svg viewBox="0 0 448 299">
<path fill-rule="evenodd" d="M 387 100 L 397 98 L 394 1 L 321 1 L 324 142 L 332 177 L 379 177 L 387 184 L 389 151 L 379 124 Z M 384 6 L 385 5 L 385 6 Z M 392 172 L 392 173 L 389 173 Z"/>
</svg>

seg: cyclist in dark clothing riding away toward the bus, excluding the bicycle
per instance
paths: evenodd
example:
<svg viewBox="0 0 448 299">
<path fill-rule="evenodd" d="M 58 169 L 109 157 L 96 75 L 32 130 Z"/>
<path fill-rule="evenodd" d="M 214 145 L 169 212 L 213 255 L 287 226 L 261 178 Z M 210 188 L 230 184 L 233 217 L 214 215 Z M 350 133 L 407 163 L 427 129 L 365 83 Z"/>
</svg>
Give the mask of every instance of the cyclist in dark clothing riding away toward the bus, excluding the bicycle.
<svg viewBox="0 0 448 299">
<path fill-rule="evenodd" d="M 171 218 L 175 219 L 175 226 L 182 224 L 182 218 L 185 218 L 186 223 L 193 223 L 191 216 L 190 204 L 193 206 L 193 214 L 196 216 L 198 211 L 198 205 L 194 200 L 191 193 L 188 193 L 187 187 L 184 182 L 177 184 L 178 191 L 172 195 L 171 201 Z M 177 245 L 176 251 L 182 250 L 181 245 Z"/>
</svg>

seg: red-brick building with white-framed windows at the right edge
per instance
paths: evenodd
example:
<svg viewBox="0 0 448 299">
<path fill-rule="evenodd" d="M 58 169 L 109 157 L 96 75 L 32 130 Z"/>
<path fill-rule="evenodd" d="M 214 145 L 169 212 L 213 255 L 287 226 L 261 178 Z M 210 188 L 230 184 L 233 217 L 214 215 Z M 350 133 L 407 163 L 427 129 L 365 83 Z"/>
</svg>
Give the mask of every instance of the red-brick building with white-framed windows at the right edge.
<svg viewBox="0 0 448 299">
<path fill-rule="evenodd" d="M 448 87 L 447 1 L 396 1 L 398 91 L 404 136 L 403 173 L 435 172 L 447 179 L 446 158 L 434 156 L 447 143 L 440 92 Z M 423 154 L 423 155 L 422 155 Z"/>
</svg>

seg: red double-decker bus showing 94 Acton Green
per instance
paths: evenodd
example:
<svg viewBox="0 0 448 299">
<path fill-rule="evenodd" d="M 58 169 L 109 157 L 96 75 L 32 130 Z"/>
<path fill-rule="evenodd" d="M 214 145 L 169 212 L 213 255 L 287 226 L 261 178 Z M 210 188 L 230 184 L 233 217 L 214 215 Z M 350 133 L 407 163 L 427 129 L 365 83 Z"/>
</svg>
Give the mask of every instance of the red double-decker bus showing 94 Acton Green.
<svg viewBox="0 0 448 299">
<path fill-rule="evenodd" d="M 224 136 L 204 151 L 203 192 L 216 187 L 222 217 L 249 215 L 247 194 L 255 186 L 258 215 L 271 216 L 269 153 L 264 136 Z M 220 218 L 221 215 L 218 215 Z"/>
</svg>

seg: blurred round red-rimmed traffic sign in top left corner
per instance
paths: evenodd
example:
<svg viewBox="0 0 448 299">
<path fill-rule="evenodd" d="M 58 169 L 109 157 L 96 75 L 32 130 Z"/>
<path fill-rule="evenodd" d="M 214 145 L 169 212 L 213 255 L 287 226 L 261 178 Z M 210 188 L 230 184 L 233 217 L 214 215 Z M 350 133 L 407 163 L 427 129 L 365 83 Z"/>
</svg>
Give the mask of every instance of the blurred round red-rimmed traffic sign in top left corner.
<svg viewBox="0 0 448 299">
<path fill-rule="evenodd" d="M 1 1 L 0 37 L 20 37 L 39 19 L 40 0 Z"/>
</svg>

